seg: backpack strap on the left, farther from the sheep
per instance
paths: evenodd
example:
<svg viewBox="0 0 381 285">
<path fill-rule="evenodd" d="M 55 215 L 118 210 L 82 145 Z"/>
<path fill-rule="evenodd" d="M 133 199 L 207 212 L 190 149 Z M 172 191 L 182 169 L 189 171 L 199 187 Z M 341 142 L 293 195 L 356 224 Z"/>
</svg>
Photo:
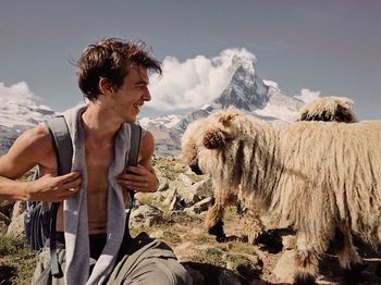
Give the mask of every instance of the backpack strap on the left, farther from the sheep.
<svg viewBox="0 0 381 285">
<path fill-rule="evenodd" d="M 50 136 L 52 138 L 53 148 L 57 157 L 57 174 L 63 175 L 70 173 L 72 170 L 73 159 L 73 144 L 70 137 L 69 127 L 63 115 L 49 119 L 45 122 Z M 57 226 L 57 212 L 60 207 L 60 202 L 53 202 L 50 208 L 50 261 L 51 261 L 51 274 L 54 277 L 62 276 L 60 267 L 58 264 L 57 257 L 57 240 L 56 240 L 56 226 Z"/>
</svg>

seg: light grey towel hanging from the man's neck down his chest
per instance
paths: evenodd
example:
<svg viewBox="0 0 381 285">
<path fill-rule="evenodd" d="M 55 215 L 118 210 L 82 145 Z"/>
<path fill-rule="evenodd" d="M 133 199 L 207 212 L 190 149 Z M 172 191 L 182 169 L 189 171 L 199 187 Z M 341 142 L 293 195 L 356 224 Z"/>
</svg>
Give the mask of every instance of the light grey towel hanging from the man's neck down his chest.
<svg viewBox="0 0 381 285">
<path fill-rule="evenodd" d="M 91 275 L 88 276 L 90 253 L 86 194 L 87 172 L 85 134 L 81 120 L 81 114 L 85 110 L 86 106 L 79 106 L 64 112 L 74 149 L 72 171 L 79 171 L 82 176 L 79 190 L 63 202 L 66 248 L 65 284 L 67 285 L 102 284 L 114 267 L 125 227 L 122 187 L 116 183 L 115 176 L 122 173 L 126 163 L 126 154 L 130 151 L 131 127 L 127 123 L 123 124 L 115 135 L 114 159 L 109 169 L 107 244 Z"/>
</svg>

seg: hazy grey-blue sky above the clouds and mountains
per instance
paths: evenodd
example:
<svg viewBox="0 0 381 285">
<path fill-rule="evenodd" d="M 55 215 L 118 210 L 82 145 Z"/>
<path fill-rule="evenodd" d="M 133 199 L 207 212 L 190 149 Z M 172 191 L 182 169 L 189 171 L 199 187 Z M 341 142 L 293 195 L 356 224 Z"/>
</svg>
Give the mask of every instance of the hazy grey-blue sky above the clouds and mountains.
<svg viewBox="0 0 381 285">
<path fill-rule="evenodd" d="M 65 110 L 82 98 L 71 60 L 119 37 L 180 66 L 244 48 L 284 92 L 345 96 L 360 120 L 380 119 L 380 15 L 378 0 L 2 1 L 0 90 L 25 82 L 39 103 Z"/>
</svg>

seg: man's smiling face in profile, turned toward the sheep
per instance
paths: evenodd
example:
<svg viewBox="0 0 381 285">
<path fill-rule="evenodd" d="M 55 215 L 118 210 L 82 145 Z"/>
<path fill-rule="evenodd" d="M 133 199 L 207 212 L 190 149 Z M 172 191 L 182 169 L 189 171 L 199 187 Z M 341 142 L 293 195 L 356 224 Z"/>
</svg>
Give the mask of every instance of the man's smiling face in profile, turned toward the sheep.
<svg viewBox="0 0 381 285">
<path fill-rule="evenodd" d="M 144 102 L 151 99 L 148 84 L 147 70 L 142 65 L 132 65 L 122 86 L 113 94 L 114 109 L 124 122 L 135 122 Z"/>
</svg>

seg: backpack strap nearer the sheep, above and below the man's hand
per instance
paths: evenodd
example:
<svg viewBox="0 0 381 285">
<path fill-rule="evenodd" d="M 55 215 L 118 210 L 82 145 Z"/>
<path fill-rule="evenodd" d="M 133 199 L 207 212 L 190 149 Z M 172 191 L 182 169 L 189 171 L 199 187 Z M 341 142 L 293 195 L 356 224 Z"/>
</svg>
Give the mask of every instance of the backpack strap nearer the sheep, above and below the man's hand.
<svg viewBox="0 0 381 285">
<path fill-rule="evenodd" d="M 137 165 L 137 160 L 139 158 L 139 148 L 140 148 L 140 140 L 142 140 L 142 126 L 138 124 L 130 124 L 131 126 L 131 148 L 128 152 L 128 158 L 126 159 L 126 164 L 127 165 Z M 130 197 L 131 197 L 131 209 L 127 212 L 127 215 L 125 218 L 125 228 L 126 228 L 126 234 L 130 237 L 130 231 L 128 231 L 128 221 L 130 221 L 130 214 L 134 205 L 134 196 L 135 191 L 134 190 L 128 190 Z"/>
</svg>

